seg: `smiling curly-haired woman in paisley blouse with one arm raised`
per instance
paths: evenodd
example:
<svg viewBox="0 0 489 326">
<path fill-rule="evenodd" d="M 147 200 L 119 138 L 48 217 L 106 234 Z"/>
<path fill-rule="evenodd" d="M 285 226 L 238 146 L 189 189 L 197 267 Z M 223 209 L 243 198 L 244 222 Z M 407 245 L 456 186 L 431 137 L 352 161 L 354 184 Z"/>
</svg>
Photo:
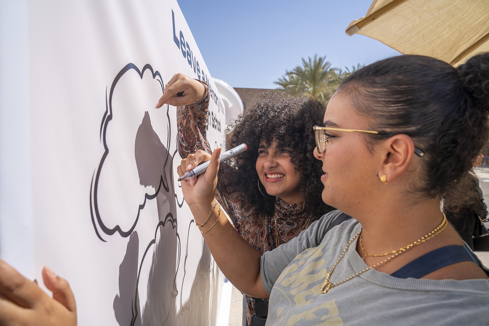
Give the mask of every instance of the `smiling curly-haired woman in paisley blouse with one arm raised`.
<svg viewBox="0 0 489 326">
<path fill-rule="evenodd" d="M 178 106 L 180 156 L 186 158 L 197 150 L 210 153 L 206 84 L 177 74 L 156 107 L 165 102 Z M 321 123 L 324 111 L 318 101 L 266 93 L 230 126 L 227 147 L 245 143 L 248 150 L 235 157 L 232 166 L 221 165 L 216 199 L 241 237 L 261 254 L 289 242 L 333 210 L 321 199 L 321 165 L 312 152 L 312 127 Z M 197 164 L 191 161 L 188 170 Z M 251 325 L 251 317 L 256 312 L 266 314 L 266 306 L 254 298 L 246 301 L 246 319 Z"/>
</svg>

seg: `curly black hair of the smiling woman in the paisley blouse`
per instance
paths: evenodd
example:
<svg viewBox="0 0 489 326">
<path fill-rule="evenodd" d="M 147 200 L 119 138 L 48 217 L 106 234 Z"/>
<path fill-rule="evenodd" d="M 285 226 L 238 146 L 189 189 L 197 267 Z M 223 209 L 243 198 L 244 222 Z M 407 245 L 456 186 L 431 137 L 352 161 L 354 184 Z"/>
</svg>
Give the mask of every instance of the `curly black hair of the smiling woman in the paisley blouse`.
<svg viewBox="0 0 489 326">
<path fill-rule="evenodd" d="M 284 92 L 268 92 L 246 109 L 243 115 L 227 128 L 230 132 L 227 148 L 245 143 L 248 150 L 234 158 L 236 172 L 231 182 L 236 184 L 248 199 L 251 210 L 274 214 L 275 197 L 265 197 L 258 188 L 256 160 L 258 147 L 263 140 L 270 145 L 275 140 L 278 148 L 292 150 L 290 162 L 300 174 L 299 190 L 305 200 L 304 213 L 319 218 L 333 208 L 326 205 L 321 193 L 321 161 L 313 155 L 315 145 L 314 125 L 323 122 L 325 108 L 319 101 L 298 98 Z M 265 187 L 262 186 L 265 195 Z"/>
</svg>

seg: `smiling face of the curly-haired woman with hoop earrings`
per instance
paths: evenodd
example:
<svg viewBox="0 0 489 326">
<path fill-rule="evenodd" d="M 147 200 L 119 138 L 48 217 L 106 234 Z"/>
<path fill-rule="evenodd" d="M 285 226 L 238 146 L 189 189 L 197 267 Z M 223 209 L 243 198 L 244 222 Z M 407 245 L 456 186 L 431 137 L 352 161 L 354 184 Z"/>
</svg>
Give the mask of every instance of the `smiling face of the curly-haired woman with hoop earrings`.
<svg viewBox="0 0 489 326">
<path fill-rule="evenodd" d="M 279 149 L 273 140 L 270 146 L 265 141 L 258 147 L 256 172 L 267 193 L 278 196 L 287 204 L 304 201 L 299 190 L 300 173 L 290 162 L 290 149 Z"/>
</svg>

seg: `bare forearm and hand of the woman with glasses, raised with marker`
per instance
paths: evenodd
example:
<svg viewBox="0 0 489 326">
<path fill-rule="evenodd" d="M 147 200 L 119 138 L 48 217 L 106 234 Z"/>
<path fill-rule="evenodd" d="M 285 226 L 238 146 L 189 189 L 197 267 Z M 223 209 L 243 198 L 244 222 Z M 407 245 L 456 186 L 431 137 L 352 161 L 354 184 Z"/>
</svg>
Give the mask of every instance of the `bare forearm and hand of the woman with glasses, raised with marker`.
<svg viewBox="0 0 489 326">
<path fill-rule="evenodd" d="M 215 150 L 212 155 L 197 151 L 181 161 L 177 169 L 180 176 L 210 159 L 209 166 L 203 174 L 181 181 L 183 196 L 192 211 L 195 224 L 201 224 L 199 228 L 202 237 L 222 273 L 240 291 L 256 298 L 268 299 L 269 295 L 263 287 L 260 273 L 261 253 L 236 232 L 229 220 L 223 216 L 225 214 L 219 218 L 219 212 L 223 208 L 213 205 L 216 200 L 214 196 L 220 154 L 221 148 Z M 209 223 L 204 226 L 209 218 Z"/>
</svg>

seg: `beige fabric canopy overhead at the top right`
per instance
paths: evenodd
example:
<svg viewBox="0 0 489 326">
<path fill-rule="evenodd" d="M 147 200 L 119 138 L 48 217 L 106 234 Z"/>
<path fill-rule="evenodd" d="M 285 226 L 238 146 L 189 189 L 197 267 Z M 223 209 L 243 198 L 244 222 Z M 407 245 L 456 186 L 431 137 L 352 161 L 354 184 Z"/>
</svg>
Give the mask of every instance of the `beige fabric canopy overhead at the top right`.
<svg viewBox="0 0 489 326">
<path fill-rule="evenodd" d="M 461 65 L 489 52 L 489 0 L 374 0 L 346 33 Z"/>
</svg>

